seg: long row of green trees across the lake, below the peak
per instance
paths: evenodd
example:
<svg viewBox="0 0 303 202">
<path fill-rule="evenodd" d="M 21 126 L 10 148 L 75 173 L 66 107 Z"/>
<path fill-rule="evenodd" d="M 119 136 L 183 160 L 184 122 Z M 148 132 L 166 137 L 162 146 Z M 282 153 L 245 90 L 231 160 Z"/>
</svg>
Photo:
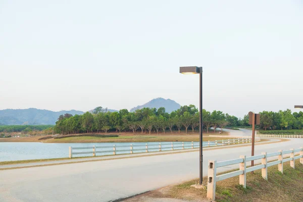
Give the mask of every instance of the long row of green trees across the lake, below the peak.
<svg viewBox="0 0 303 202">
<path fill-rule="evenodd" d="M 203 110 L 204 130 L 214 131 L 217 127 L 224 128 L 228 124 L 233 126 L 249 126 L 248 116 L 238 119 L 235 116 L 224 114 L 221 111 L 208 112 Z M 105 112 L 102 107 L 86 112 L 83 115 L 72 116 L 70 114 L 61 115 L 55 126 L 55 132 L 61 134 L 92 133 L 109 131 L 131 131 L 150 134 L 152 131 L 159 133 L 167 131 L 188 130 L 194 132 L 199 127 L 199 112 L 194 105 L 182 106 L 180 109 L 167 113 L 165 108 L 143 108 L 135 112 L 126 109 L 119 112 Z"/>
</svg>

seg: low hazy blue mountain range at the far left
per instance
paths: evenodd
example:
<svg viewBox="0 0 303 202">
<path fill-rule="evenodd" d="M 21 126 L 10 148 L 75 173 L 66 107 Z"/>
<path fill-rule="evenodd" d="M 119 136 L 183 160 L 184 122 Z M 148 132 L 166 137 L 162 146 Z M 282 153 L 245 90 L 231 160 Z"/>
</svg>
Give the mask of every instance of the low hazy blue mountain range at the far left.
<svg viewBox="0 0 303 202">
<path fill-rule="evenodd" d="M 81 115 L 84 112 L 70 110 L 53 112 L 29 108 L 24 110 L 0 110 L 0 125 L 55 125 L 58 117 L 63 114 Z"/>
</svg>

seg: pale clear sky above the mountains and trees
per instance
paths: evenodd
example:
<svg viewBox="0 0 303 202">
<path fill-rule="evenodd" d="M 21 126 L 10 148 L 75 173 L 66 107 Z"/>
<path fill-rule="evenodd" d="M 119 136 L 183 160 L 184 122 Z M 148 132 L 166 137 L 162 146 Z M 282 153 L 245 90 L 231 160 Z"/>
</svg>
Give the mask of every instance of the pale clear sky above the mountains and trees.
<svg viewBox="0 0 303 202">
<path fill-rule="evenodd" d="M 0 110 L 303 105 L 302 1 L 0 0 Z"/>
</svg>

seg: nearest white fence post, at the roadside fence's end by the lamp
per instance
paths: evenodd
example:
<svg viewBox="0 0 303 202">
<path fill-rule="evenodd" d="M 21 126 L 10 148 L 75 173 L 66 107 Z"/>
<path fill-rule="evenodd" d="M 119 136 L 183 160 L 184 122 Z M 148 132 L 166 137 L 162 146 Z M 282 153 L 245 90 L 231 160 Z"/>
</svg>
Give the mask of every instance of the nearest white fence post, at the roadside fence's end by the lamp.
<svg viewBox="0 0 303 202">
<path fill-rule="evenodd" d="M 217 177 L 217 161 L 209 161 L 207 197 L 215 200 L 216 198 L 216 177 Z"/>
</svg>

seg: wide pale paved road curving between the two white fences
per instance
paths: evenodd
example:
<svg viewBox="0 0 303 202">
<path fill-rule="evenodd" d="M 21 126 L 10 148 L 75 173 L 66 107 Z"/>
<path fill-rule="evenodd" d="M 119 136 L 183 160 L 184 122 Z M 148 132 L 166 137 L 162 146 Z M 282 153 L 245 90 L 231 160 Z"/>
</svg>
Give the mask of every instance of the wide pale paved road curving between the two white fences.
<svg viewBox="0 0 303 202">
<path fill-rule="evenodd" d="M 257 145 L 262 151 L 303 146 L 303 139 Z M 208 160 L 250 154 L 250 147 L 206 150 Z M 223 169 L 232 169 L 226 167 Z M 0 171 L 0 201 L 109 201 L 198 177 L 198 151 Z"/>
</svg>

